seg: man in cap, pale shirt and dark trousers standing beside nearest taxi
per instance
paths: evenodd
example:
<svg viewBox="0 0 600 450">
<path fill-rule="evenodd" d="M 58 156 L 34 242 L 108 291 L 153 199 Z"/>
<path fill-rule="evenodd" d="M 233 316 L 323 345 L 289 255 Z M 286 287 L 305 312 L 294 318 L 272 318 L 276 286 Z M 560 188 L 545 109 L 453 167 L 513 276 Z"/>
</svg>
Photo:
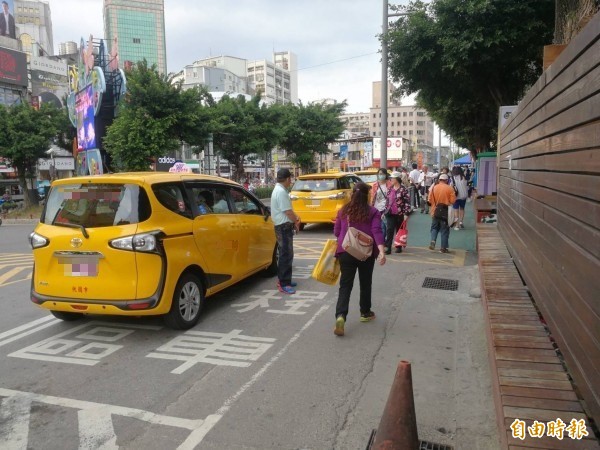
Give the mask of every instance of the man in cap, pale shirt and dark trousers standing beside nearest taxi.
<svg viewBox="0 0 600 450">
<path fill-rule="evenodd" d="M 300 217 L 292 209 L 288 188 L 292 184 L 289 169 L 277 171 L 277 184 L 271 194 L 271 217 L 275 224 L 275 236 L 279 246 L 277 261 L 277 288 L 285 294 L 294 294 L 296 283 L 292 281 L 292 262 L 294 260 L 294 231 L 300 229 Z"/>
</svg>

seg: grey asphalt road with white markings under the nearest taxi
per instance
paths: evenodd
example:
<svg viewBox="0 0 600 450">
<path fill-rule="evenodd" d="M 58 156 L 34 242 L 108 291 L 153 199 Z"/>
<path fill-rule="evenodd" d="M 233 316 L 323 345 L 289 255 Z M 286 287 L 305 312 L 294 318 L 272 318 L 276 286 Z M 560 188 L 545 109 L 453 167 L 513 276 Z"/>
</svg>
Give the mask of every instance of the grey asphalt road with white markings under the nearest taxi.
<svg viewBox="0 0 600 450">
<path fill-rule="evenodd" d="M 413 362 L 420 436 L 497 448 L 483 321 L 469 296 L 477 278 L 464 254 L 392 255 L 376 267 L 377 319 L 358 321 L 355 287 L 338 338 L 337 287 L 310 278 L 332 228 L 309 226 L 295 241 L 296 295 L 256 276 L 211 297 L 198 325 L 177 332 L 159 318 L 61 322 L 37 308 L 33 227 L 0 227 L 1 448 L 364 448 L 400 359 Z M 461 289 L 423 292 L 424 273 L 451 273 Z"/>
</svg>

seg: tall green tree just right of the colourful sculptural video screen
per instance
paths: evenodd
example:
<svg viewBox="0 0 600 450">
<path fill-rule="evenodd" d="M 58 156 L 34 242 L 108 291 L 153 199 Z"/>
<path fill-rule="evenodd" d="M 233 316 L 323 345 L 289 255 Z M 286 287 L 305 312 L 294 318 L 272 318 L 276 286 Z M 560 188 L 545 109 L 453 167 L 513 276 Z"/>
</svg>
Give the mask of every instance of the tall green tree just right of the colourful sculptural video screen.
<svg viewBox="0 0 600 450">
<path fill-rule="evenodd" d="M 207 93 L 184 91 L 173 75 L 146 60 L 127 72 L 127 93 L 103 143 L 115 169 L 148 170 L 152 160 L 175 151 L 183 141 L 200 145 L 208 137 Z"/>
</svg>

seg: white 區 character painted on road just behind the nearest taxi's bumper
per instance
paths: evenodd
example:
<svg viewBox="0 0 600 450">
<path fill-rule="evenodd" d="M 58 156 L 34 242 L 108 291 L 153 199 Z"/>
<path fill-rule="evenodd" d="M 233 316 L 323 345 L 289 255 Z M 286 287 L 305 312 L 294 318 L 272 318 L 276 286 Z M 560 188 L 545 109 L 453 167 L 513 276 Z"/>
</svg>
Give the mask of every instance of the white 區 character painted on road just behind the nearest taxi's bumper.
<svg viewBox="0 0 600 450">
<path fill-rule="evenodd" d="M 77 339 L 62 339 L 63 337 L 74 334 L 79 330 L 89 328 L 84 333 L 75 336 Z M 89 322 L 55 336 L 44 339 L 43 341 L 32 344 L 8 356 L 24 359 L 37 359 L 39 361 L 62 362 L 68 364 L 80 364 L 84 366 L 95 366 L 102 358 L 105 358 L 117 350 L 123 348 L 122 345 L 109 344 L 115 342 L 133 333 L 136 329 L 141 330 L 160 330 L 162 327 L 150 325 L 131 325 L 131 324 L 102 324 L 100 322 Z M 92 341 L 86 342 L 85 341 Z M 81 344 L 84 344 L 80 346 Z M 78 347 L 79 348 L 75 348 Z M 69 351 L 69 353 L 67 353 Z M 60 354 L 64 355 L 61 356 Z"/>
</svg>

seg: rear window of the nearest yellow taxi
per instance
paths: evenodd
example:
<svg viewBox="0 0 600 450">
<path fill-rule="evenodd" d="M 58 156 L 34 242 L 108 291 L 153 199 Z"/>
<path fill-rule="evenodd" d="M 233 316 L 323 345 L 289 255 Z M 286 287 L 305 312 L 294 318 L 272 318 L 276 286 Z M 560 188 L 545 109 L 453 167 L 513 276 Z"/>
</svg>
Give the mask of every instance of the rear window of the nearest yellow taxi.
<svg viewBox="0 0 600 450">
<path fill-rule="evenodd" d="M 63 184 L 50 190 L 41 222 L 97 228 L 143 222 L 150 213 L 146 191 L 135 184 Z"/>
</svg>

